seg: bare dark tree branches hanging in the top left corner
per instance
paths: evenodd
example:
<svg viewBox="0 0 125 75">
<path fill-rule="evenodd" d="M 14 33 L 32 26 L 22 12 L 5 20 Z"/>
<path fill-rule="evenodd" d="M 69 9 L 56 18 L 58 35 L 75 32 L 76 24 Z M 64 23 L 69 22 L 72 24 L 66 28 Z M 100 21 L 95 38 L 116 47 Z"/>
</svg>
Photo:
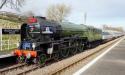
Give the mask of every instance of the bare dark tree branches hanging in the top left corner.
<svg viewBox="0 0 125 75">
<path fill-rule="evenodd" d="M 10 8 L 19 10 L 19 7 L 22 7 L 24 1 L 26 0 L 0 0 L 0 9 L 2 9 L 3 6 L 6 5 Z"/>
</svg>

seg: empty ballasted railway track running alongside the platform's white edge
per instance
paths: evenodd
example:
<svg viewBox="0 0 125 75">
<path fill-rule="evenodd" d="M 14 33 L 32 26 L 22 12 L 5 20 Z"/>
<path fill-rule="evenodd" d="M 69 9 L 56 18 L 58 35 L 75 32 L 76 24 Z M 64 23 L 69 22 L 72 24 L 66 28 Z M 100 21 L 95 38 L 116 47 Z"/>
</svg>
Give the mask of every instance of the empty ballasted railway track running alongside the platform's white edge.
<svg viewBox="0 0 125 75">
<path fill-rule="evenodd" d="M 83 53 L 77 54 L 75 56 L 72 56 L 70 58 L 64 59 L 64 60 L 59 61 L 57 63 L 53 63 L 49 66 L 43 67 L 43 68 L 38 69 L 36 71 L 31 70 L 33 72 L 30 72 L 30 73 L 29 72 L 23 72 L 22 74 L 25 75 L 25 74 L 28 73 L 28 75 L 35 75 L 35 74 L 38 74 L 38 75 L 70 75 L 70 74 L 61 74 L 61 72 L 66 71 L 67 68 L 69 68 L 69 67 L 73 69 L 73 67 L 75 65 L 80 64 L 81 61 L 82 62 L 88 61 L 87 59 L 94 56 L 95 54 L 99 55 L 99 53 L 101 53 L 102 50 L 105 50 L 105 49 L 109 48 L 110 46 L 112 46 L 115 42 L 117 42 L 120 39 L 123 39 L 123 37 L 115 39 L 113 41 L 110 41 L 106 44 L 103 44 L 103 45 L 97 47 L 97 48 L 87 50 L 86 52 L 83 52 Z M 94 57 L 96 57 L 96 56 L 94 56 Z M 20 75 L 22 75 L 22 74 L 20 74 Z"/>
</svg>

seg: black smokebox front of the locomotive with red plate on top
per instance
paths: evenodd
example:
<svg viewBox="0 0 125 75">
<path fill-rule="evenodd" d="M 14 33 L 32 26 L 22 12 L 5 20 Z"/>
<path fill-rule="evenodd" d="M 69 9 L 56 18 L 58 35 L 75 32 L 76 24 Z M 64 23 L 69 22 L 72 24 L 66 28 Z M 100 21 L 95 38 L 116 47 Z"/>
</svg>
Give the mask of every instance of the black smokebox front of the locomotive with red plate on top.
<svg viewBox="0 0 125 75">
<path fill-rule="evenodd" d="M 46 41 L 60 37 L 61 26 L 56 22 L 47 21 L 45 17 L 30 17 L 28 23 L 21 27 L 21 39 Z"/>
</svg>

